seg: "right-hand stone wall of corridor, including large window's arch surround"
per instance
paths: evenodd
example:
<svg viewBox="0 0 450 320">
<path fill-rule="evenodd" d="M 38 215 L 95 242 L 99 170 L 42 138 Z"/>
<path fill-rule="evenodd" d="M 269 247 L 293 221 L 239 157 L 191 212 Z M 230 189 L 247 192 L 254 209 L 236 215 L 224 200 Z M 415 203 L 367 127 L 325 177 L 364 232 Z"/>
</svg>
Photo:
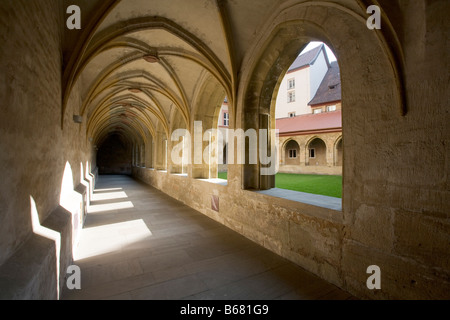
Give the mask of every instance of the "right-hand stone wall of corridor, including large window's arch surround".
<svg viewBox="0 0 450 320">
<path fill-rule="evenodd" d="M 314 37 L 333 45 L 344 105 L 342 213 L 243 190 L 258 188 L 257 165 L 229 165 L 228 186 L 145 169 L 134 175 L 358 297 L 448 299 L 448 5 L 386 5 L 395 30 L 385 24 L 382 36 L 342 10 L 293 5 L 274 12 L 247 53 L 236 106 L 236 127 L 245 129 L 270 112 L 264 95 L 296 43 Z M 395 65 L 393 54 L 403 62 Z M 212 194 L 226 203 L 219 212 L 210 209 Z M 366 286 L 371 265 L 381 269 L 381 290 Z"/>
</svg>

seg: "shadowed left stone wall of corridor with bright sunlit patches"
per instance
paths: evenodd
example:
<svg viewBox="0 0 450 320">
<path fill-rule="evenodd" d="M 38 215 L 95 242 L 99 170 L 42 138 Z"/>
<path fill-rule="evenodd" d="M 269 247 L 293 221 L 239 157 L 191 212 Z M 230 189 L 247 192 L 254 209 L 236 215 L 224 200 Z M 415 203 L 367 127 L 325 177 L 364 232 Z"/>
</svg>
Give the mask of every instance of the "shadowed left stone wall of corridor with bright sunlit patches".
<svg viewBox="0 0 450 320">
<path fill-rule="evenodd" d="M 72 226 L 81 220 L 86 201 L 74 189 L 92 186 L 85 124 L 72 121 L 80 105 L 77 90 L 61 128 L 63 12 L 58 0 L 0 2 L 3 299 L 58 297 L 57 279 L 72 261 Z M 58 241 L 38 235 L 41 228 L 59 234 L 60 261 Z"/>
</svg>

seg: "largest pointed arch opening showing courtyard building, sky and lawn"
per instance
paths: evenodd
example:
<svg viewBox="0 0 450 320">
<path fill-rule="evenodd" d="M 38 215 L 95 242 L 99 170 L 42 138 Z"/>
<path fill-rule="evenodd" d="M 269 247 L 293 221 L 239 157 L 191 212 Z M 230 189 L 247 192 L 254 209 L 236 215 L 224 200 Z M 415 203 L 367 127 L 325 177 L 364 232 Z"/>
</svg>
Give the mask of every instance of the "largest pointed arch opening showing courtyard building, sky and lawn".
<svg viewBox="0 0 450 320">
<path fill-rule="evenodd" d="M 341 80 L 334 53 L 322 42 L 309 43 L 275 90 L 272 112 L 283 146 L 275 188 L 341 198 Z"/>
</svg>

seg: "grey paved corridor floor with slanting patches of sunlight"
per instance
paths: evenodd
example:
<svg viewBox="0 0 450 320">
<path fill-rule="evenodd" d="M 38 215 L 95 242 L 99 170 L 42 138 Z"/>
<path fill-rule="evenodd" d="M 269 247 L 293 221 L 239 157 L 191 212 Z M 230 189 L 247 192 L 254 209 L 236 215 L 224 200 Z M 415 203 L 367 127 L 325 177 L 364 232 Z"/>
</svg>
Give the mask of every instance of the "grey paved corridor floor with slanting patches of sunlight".
<svg viewBox="0 0 450 320">
<path fill-rule="evenodd" d="M 164 193 L 101 176 L 62 299 L 353 299 Z"/>
</svg>

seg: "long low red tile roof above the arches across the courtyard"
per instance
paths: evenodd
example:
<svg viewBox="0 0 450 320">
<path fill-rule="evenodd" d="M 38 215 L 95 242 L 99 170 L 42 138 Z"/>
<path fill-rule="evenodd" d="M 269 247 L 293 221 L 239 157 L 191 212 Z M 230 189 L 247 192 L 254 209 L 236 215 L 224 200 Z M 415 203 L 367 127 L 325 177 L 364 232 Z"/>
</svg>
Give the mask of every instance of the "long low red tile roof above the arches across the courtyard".
<svg viewBox="0 0 450 320">
<path fill-rule="evenodd" d="M 301 135 L 314 132 L 336 132 L 342 130 L 341 110 L 319 114 L 305 114 L 293 118 L 276 120 L 280 135 Z"/>
</svg>

